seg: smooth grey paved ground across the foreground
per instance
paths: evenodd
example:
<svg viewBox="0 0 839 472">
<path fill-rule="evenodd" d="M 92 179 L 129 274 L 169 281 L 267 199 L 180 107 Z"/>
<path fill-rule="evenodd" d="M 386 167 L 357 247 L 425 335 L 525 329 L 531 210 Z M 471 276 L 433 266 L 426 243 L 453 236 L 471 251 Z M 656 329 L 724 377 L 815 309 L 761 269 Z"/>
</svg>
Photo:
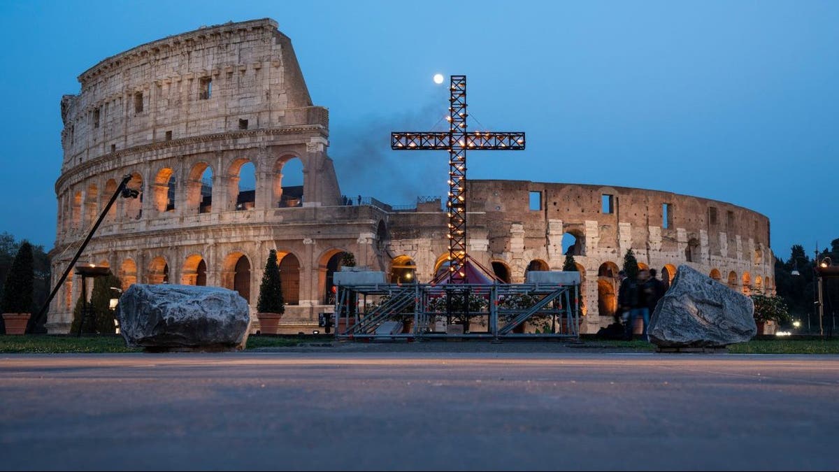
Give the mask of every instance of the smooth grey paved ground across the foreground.
<svg viewBox="0 0 839 472">
<path fill-rule="evenodd" d="M 837 440 L 839 356 L 0 358 L 0 469 L 837 469 Z"/>
</svg>

